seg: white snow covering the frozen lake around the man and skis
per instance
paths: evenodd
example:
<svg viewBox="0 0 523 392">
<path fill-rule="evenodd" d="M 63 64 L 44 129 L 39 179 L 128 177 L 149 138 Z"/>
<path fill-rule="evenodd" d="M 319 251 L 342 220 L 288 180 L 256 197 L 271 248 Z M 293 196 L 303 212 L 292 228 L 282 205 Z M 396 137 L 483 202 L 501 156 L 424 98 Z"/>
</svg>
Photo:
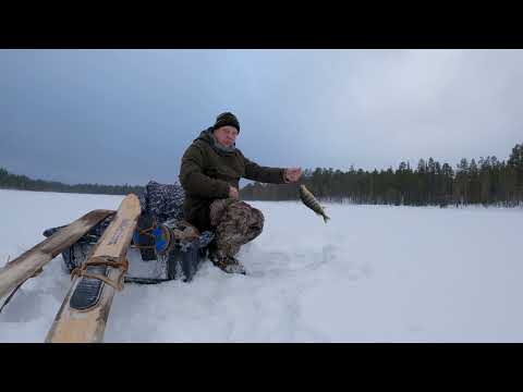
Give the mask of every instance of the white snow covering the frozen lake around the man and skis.
<svg viewBox="0 0 523 392">
<path fill-rule="evenodd" d="M 123 196 L 0 191 L 0 266 L 45 229 Z M 126 284 L 106 342 L 523 342 L 522 209 L 251 203 L 240 258 L 191 283 Z M 0 342 L 42 342 L 70 285 L 61 256 L 0 314 Z"/>
</svg>

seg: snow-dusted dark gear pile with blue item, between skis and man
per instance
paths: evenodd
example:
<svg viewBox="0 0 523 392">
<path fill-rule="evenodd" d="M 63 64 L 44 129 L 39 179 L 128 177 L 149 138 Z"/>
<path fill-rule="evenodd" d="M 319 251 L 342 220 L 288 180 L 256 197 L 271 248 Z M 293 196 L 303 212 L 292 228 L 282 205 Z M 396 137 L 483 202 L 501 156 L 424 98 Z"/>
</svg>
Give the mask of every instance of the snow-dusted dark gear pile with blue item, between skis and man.
<svg viewBox="0 0 523 392">
<path fill-rule="evenodd" d="M 199 233 L 183 219 L 184 191 L 179 184 L 150 181 L 138 195 L 142 213 L 127 250 L 125 282 L 160 283 L 193 279 L 207 256 L 214 233 Z M 76 243 L 62 252 L 64 269 L 71 272 L 87 258 L 93 246 L 109 226 L 113 216 L 94 226 Z M 59 228 L 44 232 L 51 236 Z"/>
</svg>

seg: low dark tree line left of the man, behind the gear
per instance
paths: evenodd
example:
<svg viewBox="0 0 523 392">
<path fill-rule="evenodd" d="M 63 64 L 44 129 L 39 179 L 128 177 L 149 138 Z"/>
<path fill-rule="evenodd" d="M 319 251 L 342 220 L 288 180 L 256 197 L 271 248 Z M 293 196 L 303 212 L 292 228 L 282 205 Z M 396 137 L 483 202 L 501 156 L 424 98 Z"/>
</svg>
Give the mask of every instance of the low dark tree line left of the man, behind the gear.
<svg viewBox="0 0 523 392">
<path fill-rule="evenodd" d="M 0 188 L 61 192 L 78 194 L 102 194 L 102 195 L 127 195 L 143 192 L 143 186 L 135 185 L 104 185 L 104 184 L 75 184 L 68 185 L 57 181 L 33 180 L 26 175 L 12 174 L 7 169 L 0 168 Z"/>
</svg>

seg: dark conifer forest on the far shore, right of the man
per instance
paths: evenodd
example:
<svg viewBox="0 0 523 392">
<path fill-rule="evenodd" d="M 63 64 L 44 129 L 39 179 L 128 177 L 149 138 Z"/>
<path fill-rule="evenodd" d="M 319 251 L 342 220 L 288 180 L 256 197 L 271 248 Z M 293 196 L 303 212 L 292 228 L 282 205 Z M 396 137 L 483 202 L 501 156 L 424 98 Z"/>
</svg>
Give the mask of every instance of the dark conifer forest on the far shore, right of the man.
<svg viewBox="0 0 523 392">
<path fill-rule="evenodd" d="M 363 171 L 353 167 L 343 172 L 332 168 L 304 171 L 304 184 L 318 200 L 394 205 L 440 206 L 498 205 L 523 203 L 523 144 L 515 145 L 507 161 L 496 157 L 461 159 L 455 169 L 433 158 L 419 159 L 416 168 L 401 162 L 397 170 Z M 241 191 L 244 200 L 296 200 L 296 184 L 248 184 Z"/>
</svg>

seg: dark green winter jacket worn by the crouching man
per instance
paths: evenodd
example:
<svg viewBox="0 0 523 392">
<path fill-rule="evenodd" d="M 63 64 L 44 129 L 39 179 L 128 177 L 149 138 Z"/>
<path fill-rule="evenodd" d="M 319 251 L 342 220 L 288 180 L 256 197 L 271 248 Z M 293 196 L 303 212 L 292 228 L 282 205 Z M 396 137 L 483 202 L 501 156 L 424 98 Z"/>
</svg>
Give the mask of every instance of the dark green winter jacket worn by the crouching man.
<svg viewBox="0 0 523 392">
<path fill-rule="evenodd" d="M 285 182 L 283 173 L 282 168 L 265 168 L 252 162 L 238 148 L 220 149 L 209 127 L 194 139 L 182 157 L 180 183 L 185 191 L 185 220 L 200 231 L 209 230 L 210 204 L 217 198 L 228 198 L 230 186 L 240 191 L 240 177 L 282 184 Z"/>
</svg>

